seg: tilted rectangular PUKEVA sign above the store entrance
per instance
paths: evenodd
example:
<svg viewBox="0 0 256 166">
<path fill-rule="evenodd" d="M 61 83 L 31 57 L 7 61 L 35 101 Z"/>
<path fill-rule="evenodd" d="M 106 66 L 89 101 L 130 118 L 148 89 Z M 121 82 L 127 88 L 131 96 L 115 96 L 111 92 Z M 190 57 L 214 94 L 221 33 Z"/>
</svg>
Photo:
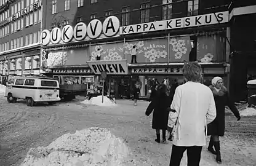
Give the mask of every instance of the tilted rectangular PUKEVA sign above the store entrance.
<svg viewBox="0 0 256 166">
<path fill-rule="evenodd" d="M 101 74 L 105 71 L 106 74 L 128 74 L 127 60 L 116 60 L 116 61 L 87 61 L 90 69 L 94 74 Z"/>
</svg>

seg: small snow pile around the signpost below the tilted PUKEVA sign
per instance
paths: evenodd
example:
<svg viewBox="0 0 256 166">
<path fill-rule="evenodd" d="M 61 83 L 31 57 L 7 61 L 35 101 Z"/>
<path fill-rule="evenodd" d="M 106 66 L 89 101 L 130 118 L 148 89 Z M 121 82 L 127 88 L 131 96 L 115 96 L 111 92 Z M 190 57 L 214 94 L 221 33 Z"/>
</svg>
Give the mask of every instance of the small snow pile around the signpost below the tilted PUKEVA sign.
<svg viewBox="0 0 256 166">
<path fill-rule="evenodd" d="M 114 101 L 111 101 L 107 97 L 103 97 L 103 103 L 102 103 L 102 96 L 92 97 L 90 100 L 84 100 L 81 102 L 82 104 L 86 105 L 97 105 L 97 106 L 114 106 L 116 103 Z"/>
</svg>

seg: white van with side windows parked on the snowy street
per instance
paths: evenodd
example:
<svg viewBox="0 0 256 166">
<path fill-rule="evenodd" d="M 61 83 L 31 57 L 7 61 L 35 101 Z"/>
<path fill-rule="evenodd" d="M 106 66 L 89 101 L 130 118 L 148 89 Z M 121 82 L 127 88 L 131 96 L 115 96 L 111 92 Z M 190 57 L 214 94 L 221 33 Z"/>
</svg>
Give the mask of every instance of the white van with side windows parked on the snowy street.
<svg viewBox="0 0 256 166">
<path fill-rule="evenodd" d="M 28 106 L 35 102 L 48 102 L 49 105 L 60 101 L 58 81 L 48 77 L 13 77 L 6 87 L 6 97 L 9 103 L 15 103 L 18 98 L 25 99 Z"/>
</svg>

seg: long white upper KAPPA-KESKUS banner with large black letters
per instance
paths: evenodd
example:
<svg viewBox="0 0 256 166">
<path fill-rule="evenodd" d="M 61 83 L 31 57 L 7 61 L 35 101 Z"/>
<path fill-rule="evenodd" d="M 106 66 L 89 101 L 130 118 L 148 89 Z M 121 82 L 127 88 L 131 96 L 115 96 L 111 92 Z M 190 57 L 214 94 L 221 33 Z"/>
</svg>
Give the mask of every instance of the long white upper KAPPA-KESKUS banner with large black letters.
<svg viewBox="0 0 256 166">
<path fill-rule="evenodd" d="M 228 22 L 228 11 L 191 17 L 174 18 L 150 23 L 121 26 L 119 34 L 146 33 L 150 31 L 173 30 L 177 28 L 189 28 L 193 26 L 214 25 Z"/>
</svg>

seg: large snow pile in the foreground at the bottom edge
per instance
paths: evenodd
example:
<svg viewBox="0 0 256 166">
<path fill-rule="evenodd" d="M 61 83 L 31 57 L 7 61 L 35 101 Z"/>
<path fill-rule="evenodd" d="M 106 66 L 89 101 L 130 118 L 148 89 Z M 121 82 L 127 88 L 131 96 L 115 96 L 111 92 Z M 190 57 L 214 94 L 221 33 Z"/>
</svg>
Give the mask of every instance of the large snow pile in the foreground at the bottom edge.
<svg viewBox="0 0 256 166">
<path fill-rule="evenodd" d="M 106 128 L 87 128 L 60 136 L 47 147 L 32 148 L 22 165 L 104 165 L 125 162 L 129 148 Z"/>
</svg>

